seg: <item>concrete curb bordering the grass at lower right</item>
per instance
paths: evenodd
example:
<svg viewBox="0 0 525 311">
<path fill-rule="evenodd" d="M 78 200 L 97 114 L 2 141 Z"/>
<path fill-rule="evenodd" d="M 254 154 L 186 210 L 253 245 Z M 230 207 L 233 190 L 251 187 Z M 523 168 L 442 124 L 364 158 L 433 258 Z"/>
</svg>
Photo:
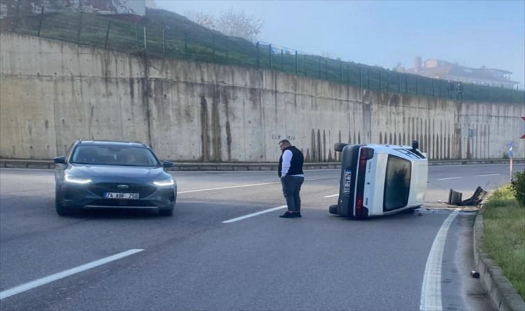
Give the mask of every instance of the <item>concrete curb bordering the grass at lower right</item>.
<svg viewBox="0 0 525 311">
<path fill-rule="evenodd" d="M 488 292 L 490 303 L 496 310 L 525 310 L 525 302 L 504 276 L 502 269 L 483 252 L 481 248 L 483 230 L 483 215 L 477 214 L 474 225 L 474 261 L 479 279 Z"/>
</svg>

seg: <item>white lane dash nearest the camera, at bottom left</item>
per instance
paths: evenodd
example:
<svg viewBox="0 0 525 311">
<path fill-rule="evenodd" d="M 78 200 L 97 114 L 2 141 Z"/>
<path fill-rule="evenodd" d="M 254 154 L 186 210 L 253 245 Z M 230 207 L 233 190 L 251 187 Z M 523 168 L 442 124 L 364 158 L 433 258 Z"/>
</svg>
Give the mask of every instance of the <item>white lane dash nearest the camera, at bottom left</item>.
<svg viewBox="0 0 525 311">
<path fill-rule="evenodd" d="M 104 263 L 109 263 L 111 261 L 116 261 L 117 259 L 124 258 L 129 255 L 133 255 L 138 252 L 142 252 L 144 249 L 130 249 L 126 252 L 122 252 L 120 254 L 115 254 L 113 256 L 109 256 L 106 258 L 99 259 L 97 261 L 92 261 L 90 263 L 86 263 L 85 265 L 80 265 L 79 267 L 74 267 L 73 269 L 62 271 L 59 273 L 55 273 L 50 276 L 46 276 L 41 279 L 37 279 L 35 281 L 31 281 L 29 283 L 25 283 L 22 285 L 17 286 L 16 288 L 10 288 L 9 290 L 4 290 L 3 292 L 0 292 L 0 300 L 4 298 L 8 298 L 10 296 L 20 294 L 21 292 L 26 292 L 26 290 L 32 290 L 33 288 L 37 288 L 41 285 L 45 285 L 47 283 L 51 283 L 53 281 L 57 281 L 59 279 L 64 279 L 66 276 L 73 275 L 75 273 L 83 272 L 88 269 L 91 269 L 93 267 L 98 267 L 99 265 L 104 265 Z"/>
</svg>

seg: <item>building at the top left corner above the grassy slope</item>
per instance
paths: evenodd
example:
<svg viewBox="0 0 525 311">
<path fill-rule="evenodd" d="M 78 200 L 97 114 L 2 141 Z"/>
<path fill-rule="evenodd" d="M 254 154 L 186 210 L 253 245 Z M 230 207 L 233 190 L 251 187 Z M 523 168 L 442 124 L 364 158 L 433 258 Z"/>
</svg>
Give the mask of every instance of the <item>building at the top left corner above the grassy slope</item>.
<svg viewBox="0 0 525 311">
<path fill-rule="evenodd" d="M 2 0 L 0 17 L 38 15 L 42 8 L 48 13 L 64 10 L 84 11 L 140 21 L 146 15 L 146 0 Z"/>
</svg>

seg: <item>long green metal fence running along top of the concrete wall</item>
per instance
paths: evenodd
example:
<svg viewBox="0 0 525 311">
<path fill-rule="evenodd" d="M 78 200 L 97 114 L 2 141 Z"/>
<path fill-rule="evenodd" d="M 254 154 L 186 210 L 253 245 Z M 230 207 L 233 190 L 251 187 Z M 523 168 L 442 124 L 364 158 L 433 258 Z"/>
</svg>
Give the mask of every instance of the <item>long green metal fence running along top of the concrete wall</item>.
<svg viewBox="0 0 525 311">
<path fill-rule="evenodd" d="M 45 12 L 42 8 L 38 15 L 3 17 L 0 28 L 126 53 L 146 51 L 151 57 L 270 68 L 374 91 L 456 98 L 455 92 L 448 92 L 446 80 L 328 59 L 262 41 L 252 43 L 227 37 L 218 32 L 162 28 L 151 21 L 139 26 L 93 13 Z M 463 100 L 525 103 L 525 91 L 464 84 Z"/>
</svg>

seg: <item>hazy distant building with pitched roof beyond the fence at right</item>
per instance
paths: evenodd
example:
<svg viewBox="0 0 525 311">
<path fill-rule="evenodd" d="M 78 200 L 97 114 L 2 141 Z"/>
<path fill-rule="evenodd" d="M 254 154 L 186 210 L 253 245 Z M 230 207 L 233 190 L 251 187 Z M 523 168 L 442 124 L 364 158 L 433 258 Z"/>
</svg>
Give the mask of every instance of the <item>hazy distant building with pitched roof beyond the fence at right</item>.
<svg viewBox="0 0 525 311">
<path fill-rule="evenodd" d="M 451 63 L 439 59 L 427 59 L 421 62 L 421 57 L 415 57 L 414 68 L 405 69 L 400 63 L 394 67 L 402 73 L 414 73 L 423 77 L 445 79 L 455 82 L 473 83 L 480 85 L 516 88 L 519 82 L 510 79 L 510 71 L 494 68 L 470 68 L 459 66 L 457 62 Z"/>
</svg>

